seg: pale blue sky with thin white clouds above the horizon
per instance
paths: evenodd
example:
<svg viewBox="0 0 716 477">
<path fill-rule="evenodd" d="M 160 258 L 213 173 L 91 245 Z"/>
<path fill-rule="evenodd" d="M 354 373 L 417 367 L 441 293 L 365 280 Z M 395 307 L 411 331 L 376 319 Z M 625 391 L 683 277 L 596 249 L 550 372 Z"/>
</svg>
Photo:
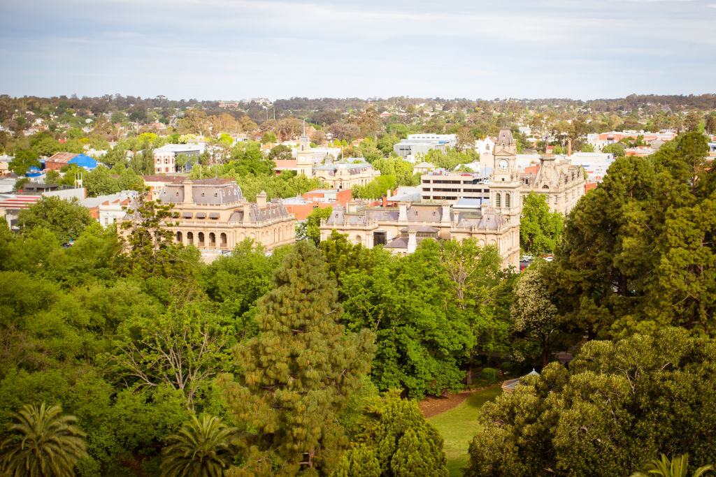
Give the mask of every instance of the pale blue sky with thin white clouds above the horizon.
<svg viewBox="0 0 716 477">
<path fill-rule="evenodd" d="M 0 94 L 716 92 L 716 0 L 0 0 Z"/>
</svg>

